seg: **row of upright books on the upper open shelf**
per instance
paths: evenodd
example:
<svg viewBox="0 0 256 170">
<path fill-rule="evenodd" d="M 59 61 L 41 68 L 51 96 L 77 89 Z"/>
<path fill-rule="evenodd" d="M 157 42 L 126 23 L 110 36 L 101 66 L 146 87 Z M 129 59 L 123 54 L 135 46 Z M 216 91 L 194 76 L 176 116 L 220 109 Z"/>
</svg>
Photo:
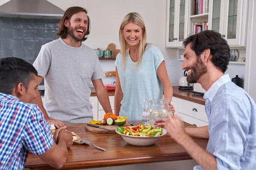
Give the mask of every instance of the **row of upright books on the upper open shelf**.
<svg viewBox="0 0 256 170">
<path fill-rule="evenodd" d="M 209 12 L 209 0 L 192 0 L 192 15 Z"/>
</svg>

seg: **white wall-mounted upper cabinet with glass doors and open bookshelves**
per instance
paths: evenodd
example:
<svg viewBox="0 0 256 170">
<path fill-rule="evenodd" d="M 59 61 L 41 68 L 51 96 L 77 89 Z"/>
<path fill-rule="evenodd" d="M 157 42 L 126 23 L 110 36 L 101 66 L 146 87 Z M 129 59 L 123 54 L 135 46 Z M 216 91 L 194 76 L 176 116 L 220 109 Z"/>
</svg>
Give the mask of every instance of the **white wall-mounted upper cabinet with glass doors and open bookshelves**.
<svg viewBox="0 0 256 170">
<path fill-rule="evenodd" d="M 246 46 L 249 0 L 168 0 L 167 2 L 166 47 L 183 47 L 184 39 L 206 29 L 220 33 L 230 47 Z"/>
</svg>

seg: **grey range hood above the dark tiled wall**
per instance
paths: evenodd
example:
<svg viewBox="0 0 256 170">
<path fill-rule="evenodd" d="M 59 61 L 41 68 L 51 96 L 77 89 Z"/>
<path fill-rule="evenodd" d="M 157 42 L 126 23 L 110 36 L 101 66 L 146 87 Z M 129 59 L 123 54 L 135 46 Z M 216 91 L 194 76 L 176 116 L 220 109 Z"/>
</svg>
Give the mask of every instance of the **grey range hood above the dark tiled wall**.
<svg viewBox="0 0 256 170">
<path fill-rule="evenodd" d="M 0 17 L 61 19 L 64 12 L 47 0 L 10 0 L 0 6 Z"/>
</svg>

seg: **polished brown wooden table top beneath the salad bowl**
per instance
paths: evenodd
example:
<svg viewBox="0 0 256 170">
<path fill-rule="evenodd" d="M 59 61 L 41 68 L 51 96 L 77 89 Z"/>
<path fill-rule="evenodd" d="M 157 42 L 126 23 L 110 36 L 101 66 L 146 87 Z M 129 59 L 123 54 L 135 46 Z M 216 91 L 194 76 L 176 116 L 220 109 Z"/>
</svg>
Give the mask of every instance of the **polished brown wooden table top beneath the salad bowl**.
<svg viewBox="0 0 256 170">
<path fill-rule="evenodd" d="M 131 121 L 135 125 L 141 121 Z M 163 136 L 150 146 L 133 146 L 127 144 L 122 137 L 117 134 L 92 133 L 85 130 L 84 124 L 69 124 L 67 130 L 77 133 L 81 139 L 90 141 L 107 151 L 97 149 L 89 145 L 72 145 L 68 149 L 67 163 L 62 170 L 110 167 L 128 164 L 143 164 L 162 161 L 186 160 L 191 157 L 183 147 L 172 140 L 169 135 Z M 189 124 L 185 123 L 186 126 Z M 196 127 L 195 127 L 196 128 Z M 208 139 L 193 138 L 193 140 L 206 149 Z M 45 164 L 38 156 L 29 153 L 25 168 L 52 170 L 54 168 Z"/>
</svg>

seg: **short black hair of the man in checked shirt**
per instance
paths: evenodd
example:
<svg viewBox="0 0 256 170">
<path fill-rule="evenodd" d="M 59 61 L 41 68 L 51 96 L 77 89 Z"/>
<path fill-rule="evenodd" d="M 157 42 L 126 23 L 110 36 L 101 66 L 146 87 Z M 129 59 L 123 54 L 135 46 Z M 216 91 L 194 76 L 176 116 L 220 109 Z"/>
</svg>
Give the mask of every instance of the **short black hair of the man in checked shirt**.
<svg viewBox="0 0 256 170">
<path fill-rule="evenodd" d="M 0 93 L 12 94 L 13 88 L 20 82 L 28 89 L 32 74 L 37 76 L 38 72 L 32 64 L 23 59 L 0 59 Z"/>
</svg>

